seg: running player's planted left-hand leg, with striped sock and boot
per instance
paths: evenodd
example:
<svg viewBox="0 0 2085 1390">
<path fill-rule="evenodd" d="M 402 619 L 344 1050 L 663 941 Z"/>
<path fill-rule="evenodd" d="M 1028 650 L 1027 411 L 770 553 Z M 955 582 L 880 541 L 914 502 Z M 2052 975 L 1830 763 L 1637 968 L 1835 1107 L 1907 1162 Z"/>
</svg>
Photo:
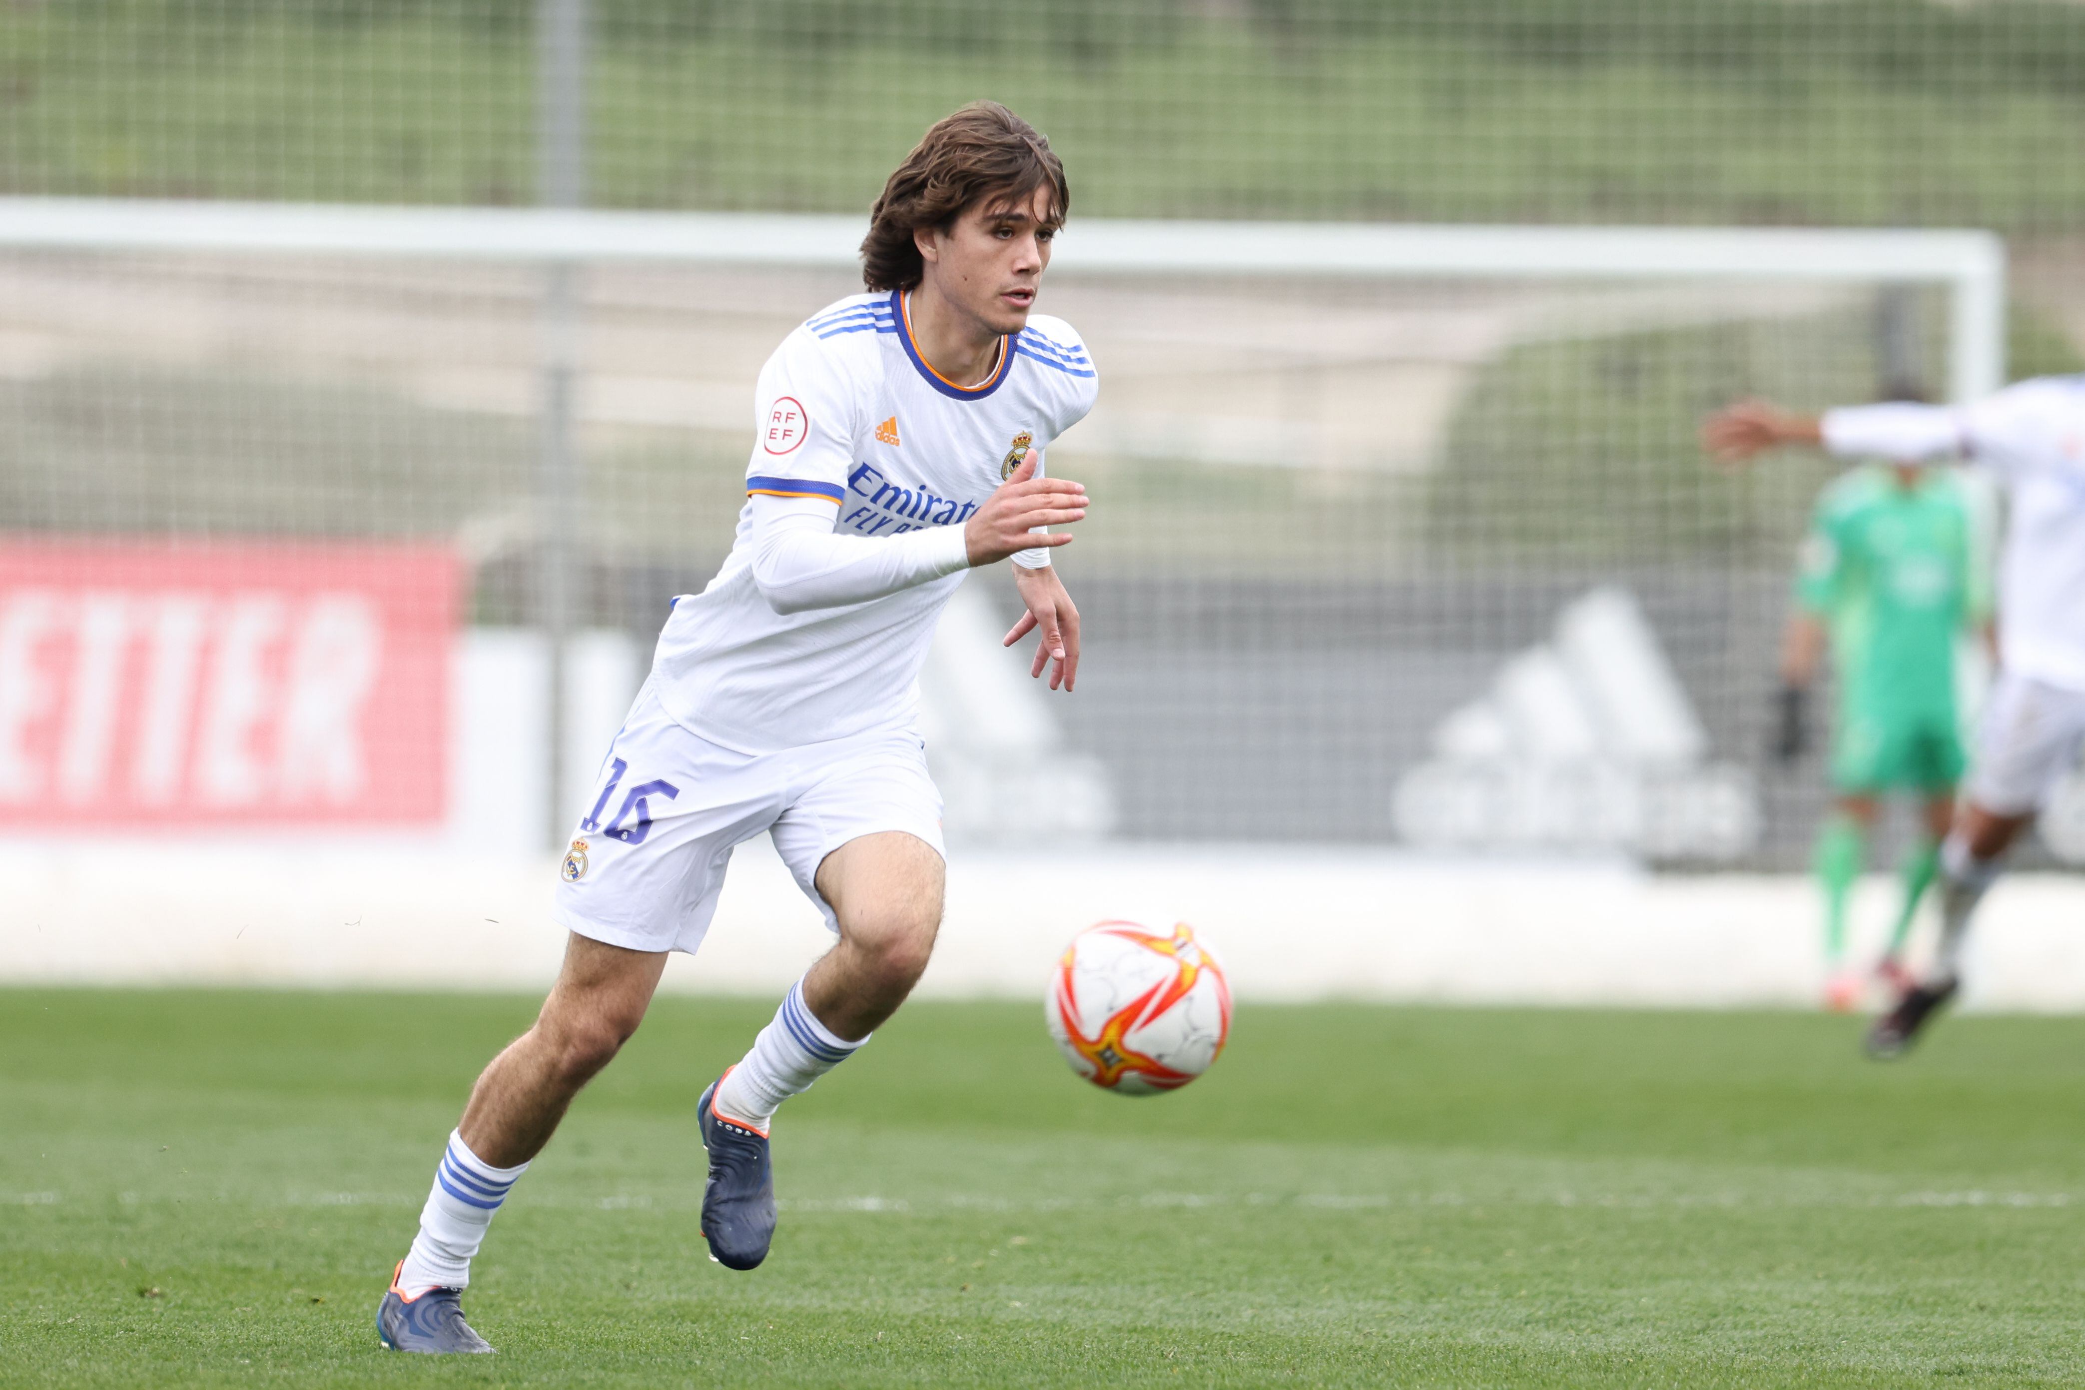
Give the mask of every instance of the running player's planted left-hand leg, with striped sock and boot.
<svg viewBox="0 0 2085 1390">
<path fill-rule="evenodd" d="M 565 965 L 536 1025 L 484 1069 L 463 1123 L 448 1136 L 419 1213 L 419 1236 L 377 1305 L 384 1346 L 492 1350 L 463 1319 L 471 1259 L 507 1192 L 550 1142 L 565 1107 L 638 1029 L 663 969 L 665 952 L 567 938 Z"/>
</svg>

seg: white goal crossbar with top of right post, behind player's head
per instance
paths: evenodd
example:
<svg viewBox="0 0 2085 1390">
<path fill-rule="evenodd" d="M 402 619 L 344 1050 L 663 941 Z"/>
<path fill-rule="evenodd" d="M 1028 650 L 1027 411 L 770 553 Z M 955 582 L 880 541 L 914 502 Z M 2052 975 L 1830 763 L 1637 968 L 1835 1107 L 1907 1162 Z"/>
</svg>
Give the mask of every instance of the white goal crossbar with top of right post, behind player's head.
<svg viewBox="0 0 2085 1390">
<path fill-rule="evenodd" d="M 0 198 L 19 250 L 853 267 L 859 217 Z M 2006 246 L 1974 229 L 1507 227 L 1080 217 L 1063 269 L 1414 279 L 1808 279 L 1949 292 L 1947 394 L 2006 375 Z"/>
</svg>

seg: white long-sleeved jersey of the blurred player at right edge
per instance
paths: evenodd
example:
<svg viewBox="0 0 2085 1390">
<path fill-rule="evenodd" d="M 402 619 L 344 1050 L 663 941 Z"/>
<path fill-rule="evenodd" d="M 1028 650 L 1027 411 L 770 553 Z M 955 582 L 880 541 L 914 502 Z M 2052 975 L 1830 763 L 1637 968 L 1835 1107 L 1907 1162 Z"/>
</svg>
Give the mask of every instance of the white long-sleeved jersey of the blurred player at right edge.
<svg viewBox="0 0 2085 1390">
<path fill-rule="evenodd" d="M 2000 661 L 2085 690 L 2085 377 L 2035 377 L 1966 406 L 1824 413 L 1835 454 L 1943 458 L 1989 469 L 2010 496 L 2000 561 Z"/>
</svg>

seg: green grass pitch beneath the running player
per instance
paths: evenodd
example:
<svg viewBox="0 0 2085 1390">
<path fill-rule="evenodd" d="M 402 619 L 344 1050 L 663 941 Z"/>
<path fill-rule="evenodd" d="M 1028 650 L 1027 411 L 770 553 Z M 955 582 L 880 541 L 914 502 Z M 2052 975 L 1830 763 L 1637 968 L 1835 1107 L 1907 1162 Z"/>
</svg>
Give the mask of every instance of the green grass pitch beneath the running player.
<svg viewBox="0 0 2085 1390">
<path fill-rule="evenodd" d="M 694 1098 L 767 1007 L 661 1000 L 465 1307 L 371 1313 L 534 1000 L 0 992 L 4 1386 L 1902 1386 L 2085 1380 L 2085 1021 L 1858 1059 L 1806 1015 L 1241 1011 L 1176 1096 L 1038 1009 L 915 1004 L 703 1255 Z"/>
</svg>

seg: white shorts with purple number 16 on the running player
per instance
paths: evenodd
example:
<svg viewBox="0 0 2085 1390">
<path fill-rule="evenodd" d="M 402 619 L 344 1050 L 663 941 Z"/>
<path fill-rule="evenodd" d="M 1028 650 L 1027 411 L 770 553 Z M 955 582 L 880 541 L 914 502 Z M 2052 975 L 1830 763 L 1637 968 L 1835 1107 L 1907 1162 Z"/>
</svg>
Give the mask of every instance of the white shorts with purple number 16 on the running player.
<svg viewBox="0 0 2085 1390">
<path fill-rule="evenodd" d="M 947 854 L 917 736 L 884 729 L 732 752 L 676 723 L 646 681 L 573 831 L 553 915 L 611 946 L 692 952 L 717 913 L 732 848 L 763 829 L 834 932 L 813 882 L 826 854 L 886 829 Z"/>
</svg>

